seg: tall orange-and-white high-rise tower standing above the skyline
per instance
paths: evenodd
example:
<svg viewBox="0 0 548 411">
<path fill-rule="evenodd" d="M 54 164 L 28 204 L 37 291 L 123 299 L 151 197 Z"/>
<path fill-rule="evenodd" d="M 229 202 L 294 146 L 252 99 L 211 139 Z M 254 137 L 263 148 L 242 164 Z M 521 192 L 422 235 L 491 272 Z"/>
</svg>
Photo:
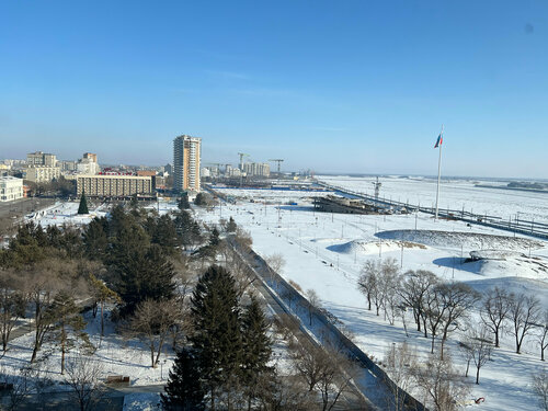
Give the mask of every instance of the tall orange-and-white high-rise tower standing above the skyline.
<svg viewBox="0 0 548 411">
<path fill-rule="evenodd" d="M 173 140 L 173 190 L 199 192 L 202 138 L 182 135 Z"/>
</svg>

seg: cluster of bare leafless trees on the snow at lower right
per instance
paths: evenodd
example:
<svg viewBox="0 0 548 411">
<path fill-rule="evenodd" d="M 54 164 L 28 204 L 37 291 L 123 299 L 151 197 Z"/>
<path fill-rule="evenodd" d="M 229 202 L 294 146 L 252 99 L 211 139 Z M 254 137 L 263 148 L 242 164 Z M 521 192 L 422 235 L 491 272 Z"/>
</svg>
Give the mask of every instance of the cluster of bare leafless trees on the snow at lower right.
<svg viewBox="0 0 548 411">
<path fill-rule="evenodd" d="M 522 352 L 526 339 L 536 339 L 540 359 L 545 359 L 548 310 L 541 309 L 535 296 L 514 294 L 499 287 L 478 293 L 465 283 L 443 282 L 424 270 L 401 273 L 395 259 L 367 261 L 357 288 L 365 296 L 368 310 L 383 315 L 390 324 L 400 319 L 406 333 L 407 313 L 410 311 L 416 331 L 431 340 L 431 354 L 438 347 L 438 356 L 427 359 L 424 373 L 413 361 L 414 354 L 410 354 L 407 345 L 399 345 L 386 355 L 386 366 L 389 374 L 396 376 L 396 383 L 406 387 L 413 379 L 426 392 L 434 409 L 452 410 L 455 397 L 466 392 L 465 385 L 459 384 L 452 356 L 445 351 L 448 336 L 457 330 L 461 332 L 458 347 L 467 364 L 465 377 L 472 363 L 476 366 L 476 384 L 479 384 L 480 369 L 490 359 L 492 351 L 500 347 L 503 333 L 513 338 L 517 354 Z M 403 363 L 407 364 L 407 373 L 402 369 Z M 432 373 L 432 369 L 439 374 Z M 442 380 L 446 383 L 439 385 Z M 431 391 L 436 384 L 438 388 L 445 387 L 443 392 Z M 447 398 L 443 399 L 444 396 Z"/>
</svg>

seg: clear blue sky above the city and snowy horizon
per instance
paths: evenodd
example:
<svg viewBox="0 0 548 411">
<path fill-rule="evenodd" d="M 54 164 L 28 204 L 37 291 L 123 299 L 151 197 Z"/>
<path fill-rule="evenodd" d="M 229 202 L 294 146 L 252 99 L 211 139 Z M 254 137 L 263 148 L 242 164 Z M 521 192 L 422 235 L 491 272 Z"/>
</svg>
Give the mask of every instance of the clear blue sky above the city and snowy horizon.
<svg viewBox="0 0 548 411">
<path fill-rule="evenodd" d="M 0 158 L 548 178 L 548 1 L 3 1 Z"/>
</svg>

